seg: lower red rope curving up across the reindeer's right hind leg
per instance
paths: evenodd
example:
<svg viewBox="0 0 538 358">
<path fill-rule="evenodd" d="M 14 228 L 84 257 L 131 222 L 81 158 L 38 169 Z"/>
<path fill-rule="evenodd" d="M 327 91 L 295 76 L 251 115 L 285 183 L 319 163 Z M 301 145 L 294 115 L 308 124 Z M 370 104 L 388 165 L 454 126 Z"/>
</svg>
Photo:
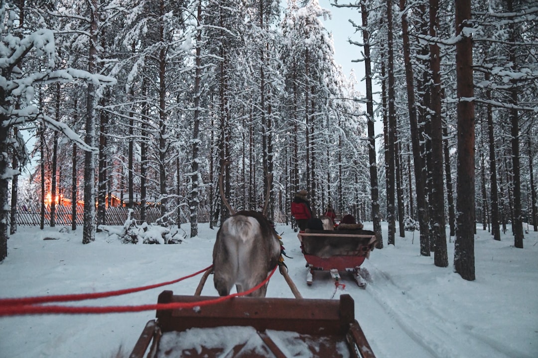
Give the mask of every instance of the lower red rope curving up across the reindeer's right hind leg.
<svg viewBox="0 0 538 358">
<path fill-rule="evenodd" d="M 61 313 L 66 315 L 80 315 L 80 314 L 95 314 L 95 313 L 122 313 L 122 312 L 141 312 L 152 310 L 173 310 L 173 309 L 192 309 L 195 307 L 207 306 L 211 304 L 217 304 L 224 302 L 227 299 L 231 299 L 237 296 L 245 296 L 258 290 L 264 284 L 266 284 L 277 270 L 277 266 L 273 268 L 273 271 L 267 276 L 267 278 L 259 283 L 256 287 L 251 288 L 248 291 L 242 293 L 235 293 L 228 296 L 222 296 L 215 299 L 208 299 L 206 301 L 199 302 L 171 302 L 171 303 L 157 303 L 157 304 L 145 304 L 138 306 L 57 306 L 57 305 L 11 305 L 0 307 L 0 317 L 2 316 L 22 316 L 22 315 L 47 315 L 54 313 Z M 209 268 L 208 268 L 209 269 Z M 203 272 L 203 271 L 202 271 Z M 192 275 L 191 275 L 192 276 Z"/>
</svg>

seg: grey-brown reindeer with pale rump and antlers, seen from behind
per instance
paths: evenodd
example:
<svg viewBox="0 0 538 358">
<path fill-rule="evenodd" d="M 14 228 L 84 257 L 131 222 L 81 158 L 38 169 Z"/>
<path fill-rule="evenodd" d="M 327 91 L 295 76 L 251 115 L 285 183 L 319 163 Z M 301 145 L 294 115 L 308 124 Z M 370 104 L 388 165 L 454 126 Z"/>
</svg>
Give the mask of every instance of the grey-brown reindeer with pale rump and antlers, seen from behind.
<svg viewBox="0 0 538 358">
<path fill-rule="evenodd" d="M 217 232 L 213 247 L 213 282 L 218 294 L 227 296 L 234 284 L 239 293 L 255 287 L 266 279 L 279 263 L 280 242 L 277 233 L 265 217 L 270 189 L 267 190 L 263 213 L 245 210 L 236 213 L 224 196 L 222 177 L 221 170 L 219 177 L 221 198 L 233 215 L 222 223 Z M 267 285 L 249 296 L 265 297 L 266 291 Z"/>
</svg>

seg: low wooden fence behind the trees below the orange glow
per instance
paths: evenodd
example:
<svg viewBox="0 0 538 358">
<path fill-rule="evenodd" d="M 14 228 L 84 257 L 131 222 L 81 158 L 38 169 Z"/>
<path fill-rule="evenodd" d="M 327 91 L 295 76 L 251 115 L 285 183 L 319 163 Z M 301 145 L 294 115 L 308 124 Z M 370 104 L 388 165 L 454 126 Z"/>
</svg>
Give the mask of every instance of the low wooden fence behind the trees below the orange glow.
<svg viewBox="0 0 538 358">
<path fill-rule="evenodd" d="M 140 207 L 134 207 L 134 218 L 140 220 Z M 127 218 L 129 208 L 125 207 L 108 207 L 105 211 L 105 223 L 107 225 L 123 225 Z M 84 224 L 84 207 L 77 205 L 76 208 L 76 224 L 82 226 Z M 55 224 L 56 225 L 71 225 L 72 208 L 70 206 L 56 205 L 55 207 Z M 146 208 L 146 222 L 156 222 L 161 216 L 159 208 Z M 188 207 L 180 208 L 181 224 L 190 222 L 190 211 Z M 198 222 L 208 223 L 210 218 L 209 207 L 202 206 L 198 208 Z M 39 226 L 41 221 L 41 206 L 39 204 L 19 204 L 17 206 L 17 225 Z M 175 223 L 176 213 L 172 215 L 171 221 Z M 285 223 L 286 217 L 280 211 L 275 211 L 275 221 Z M 51 222 L 51 206 L 45 206 L 45 225 Z"/>
</svg>

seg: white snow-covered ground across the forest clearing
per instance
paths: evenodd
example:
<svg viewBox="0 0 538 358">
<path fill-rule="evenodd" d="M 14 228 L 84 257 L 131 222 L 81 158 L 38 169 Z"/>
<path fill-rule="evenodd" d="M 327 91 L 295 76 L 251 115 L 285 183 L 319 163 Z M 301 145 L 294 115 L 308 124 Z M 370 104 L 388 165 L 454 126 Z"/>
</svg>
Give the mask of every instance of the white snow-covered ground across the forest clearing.
<svg viewBox="0 0 538 358">
<path fill-rule="evenodd" d="M 386 223 L 383 236 L 386 243 Z M 382 224 L 382 225 L 383 225 Z M 185 225 L 188 230 L 188 225 Z M 365 223 L 371 229 L 371 223 Z M 0 298 L 92 293 L 171 281 L 211 264 L 215 230 L 199 225 L 199 236 L 178 245 L 121 244 L 98 234 L 82 244 L 82 229 L 60 233 L 20 227 L 8 241 L 0 265 Z M 527 227 L 526 227 L 527 229 Z M 329 273 L 316 272 L 306 284 L 305 259 L 290 227 L 282 233 L 289 273 L 305 298 L 330 298 Z M 538 233 L 529 228 L 525 249 L 515 249 L 507 232 L 495 242 L 478 228 L 476 281 L 455 274 L 454 243 L 447 268 L 419 255 L 419 235 L 406 233 L 395 246 L 374 250 L 367 268 L 372 282 L 360 289 L 343 274 L 355 299 L 356 319 L 377 357 L 538 357 Z M 44 238 L 55 240 L 44 240 Z M 453 238 L 452 238 L 453 239 Z M 157 302 L 162 289 L 192 295 L 200 277 L 172 286 L 72 305 L 140 305 Z M 216 296 L 211 278 L 202 295 Z M 267 297 L 293 297 L 284 277 L 275 274 Z M 128 355 L 154 311 L 103 315 L 0 317 L 0 357 L 110 357 L 122 346 Z"/>
</svg>

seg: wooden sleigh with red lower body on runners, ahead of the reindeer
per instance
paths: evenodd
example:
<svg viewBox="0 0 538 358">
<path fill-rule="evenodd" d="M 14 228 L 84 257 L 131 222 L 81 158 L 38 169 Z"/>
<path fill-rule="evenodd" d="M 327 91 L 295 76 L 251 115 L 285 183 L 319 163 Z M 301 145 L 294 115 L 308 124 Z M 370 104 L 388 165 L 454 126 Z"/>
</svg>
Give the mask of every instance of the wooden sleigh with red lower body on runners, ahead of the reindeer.
<svg viewBox="0 0 538 358">
<path fill-rule="evenodd" d="M 340 272 L 350 272 L 359 287 L 366 287 L 360 265 L 369 257 L 377 238 L 369 230 L 300 231 L 301 250 L 307 261 L 307 284 L 312 285 L 315 271 L 329 271 L 338 284 Z"/>
</svg>

